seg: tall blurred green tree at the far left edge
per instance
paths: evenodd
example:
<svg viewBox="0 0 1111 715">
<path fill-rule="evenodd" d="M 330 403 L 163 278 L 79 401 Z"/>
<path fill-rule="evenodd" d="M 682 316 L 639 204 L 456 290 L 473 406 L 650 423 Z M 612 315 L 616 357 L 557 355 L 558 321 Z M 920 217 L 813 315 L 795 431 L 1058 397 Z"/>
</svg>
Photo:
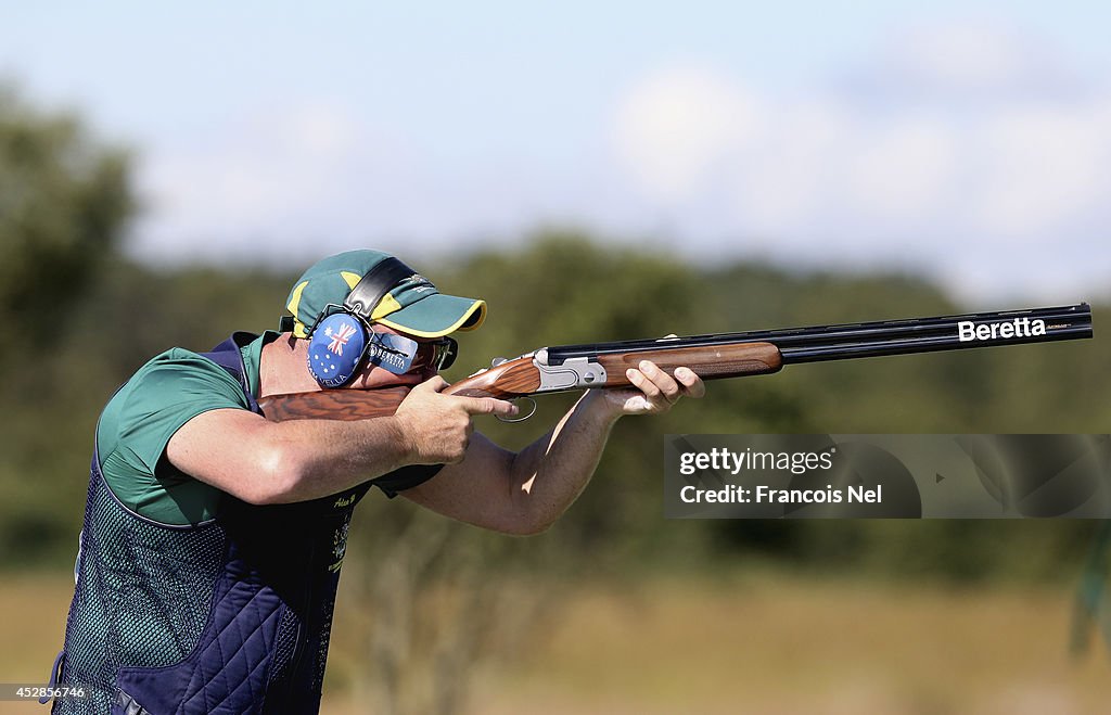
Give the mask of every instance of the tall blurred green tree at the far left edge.
<svg viewBox="0 0 1111 715">
<path fill-rule="evenodd" d="M 92 140 L 68 113 L 48 113 L 0 87 L 0 563 L 72 554 L 73 455 L 89 444 L 77 417 L 81 353 L 62 349 L 133 209 L 127 154 Z M 76 363 L 66 380 L 58 365 Z M 102 393 L 98 395 L 102 399 Z M 88 456 L 82 457 L 87 462 Z M 80 508 L 77 510 L 80 512 Z M 56 562 L 54 562 L 56 563 Z"/>
</svg>

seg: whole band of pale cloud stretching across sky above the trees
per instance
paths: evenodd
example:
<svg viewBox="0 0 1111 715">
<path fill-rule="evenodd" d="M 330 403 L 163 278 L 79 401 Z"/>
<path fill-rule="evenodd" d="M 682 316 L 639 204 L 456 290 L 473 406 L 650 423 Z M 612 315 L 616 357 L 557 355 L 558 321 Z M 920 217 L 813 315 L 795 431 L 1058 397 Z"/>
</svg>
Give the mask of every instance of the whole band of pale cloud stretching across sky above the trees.
<svg viewBox="0 0 1111 715">
<path fill-rule="evenodd" d="M 487 121 L 501 108 L 458 98 L 462 114 L 381 88 L 370 101 L 392 99 L 374 105 L 294 88 L 144 150 L 138 252 L 251 256 L 259 239 L 286 260 L 367 240 L 444 250 L 549 220 L 682 238 L 708 260 L 924 266 L 965 295 L 1105 284 L 1111 88 L 990 22 L 884 37 L 855 69 L 828 58 L 790 91 L 727 60 L 660 64 L 615 97 L 539 83 L 518 108 L 581 110 L 524 112 L 534 124 Z M 498 95 L 488 79 L 467 85 Z"/>
</svg>

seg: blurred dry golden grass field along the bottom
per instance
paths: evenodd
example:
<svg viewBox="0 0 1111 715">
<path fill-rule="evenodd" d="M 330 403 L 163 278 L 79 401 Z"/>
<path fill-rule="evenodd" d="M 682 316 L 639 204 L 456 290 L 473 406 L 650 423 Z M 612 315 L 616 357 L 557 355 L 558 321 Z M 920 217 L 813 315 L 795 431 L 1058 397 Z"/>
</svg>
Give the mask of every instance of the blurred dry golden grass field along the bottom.
<svg viewBox="0 0 1111 715">
<path fill-rule="evenodd" d="M 1111 712 L 1105 648 L 1067 652 L 1071 596 L 784 575 L 583 588 L 527 653 L 479 672 L 467 712 Z M 68 598 L 64 578 L 4 580 L 0 681 L 43 682 Z M 361 667 L 342 623 L 334 636 L 337 665 Z M 44 712 L 0 703 L 0 713 Z M 323 712 L 369 711 L 339 692 Z"/>
</svg>

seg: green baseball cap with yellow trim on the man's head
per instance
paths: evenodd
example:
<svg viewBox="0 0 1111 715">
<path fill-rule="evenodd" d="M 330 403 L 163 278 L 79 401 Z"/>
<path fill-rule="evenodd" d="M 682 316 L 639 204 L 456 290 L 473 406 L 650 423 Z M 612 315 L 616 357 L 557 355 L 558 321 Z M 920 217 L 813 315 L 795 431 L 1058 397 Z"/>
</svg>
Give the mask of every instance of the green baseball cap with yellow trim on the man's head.
<svg viewBox="0 0 1111 715">
<path fill-rule="evenodd" d="M 381 251 L 348 251 L 314 264 L 298 279 L 286 300 L 292 314 L 282 329 L 308 338 L 309 329 L 329 305 L 342 305 L 348 293 L 372 268 L 393 258 Z M 371 312 L 371 320 L 418 338 L 440 338 L 457 330 L 474 330 L 486 320 L 486 301 L 444 295 L 427 278 L 413 273 L 402 280 Z"/>
</svg>

